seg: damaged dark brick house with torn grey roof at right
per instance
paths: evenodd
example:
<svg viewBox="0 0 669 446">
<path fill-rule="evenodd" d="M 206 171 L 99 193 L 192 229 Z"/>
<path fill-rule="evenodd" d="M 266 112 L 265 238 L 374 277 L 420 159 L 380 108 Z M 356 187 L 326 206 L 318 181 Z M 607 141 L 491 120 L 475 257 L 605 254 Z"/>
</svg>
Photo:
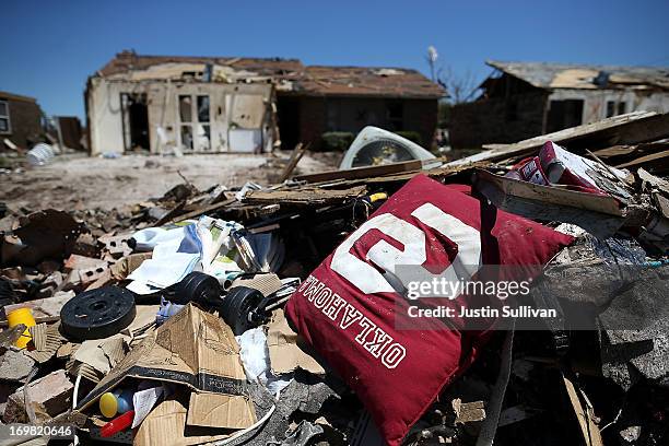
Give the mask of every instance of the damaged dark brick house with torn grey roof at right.
<svg viewBox="0 0 669 446">
<path fill-rule="evenodd" d="M 669 68 L 486 61 L 473 102 L 454 107 L 455 148 L 507 143 L 646 110 L 669 111 Z"/>
</svg>

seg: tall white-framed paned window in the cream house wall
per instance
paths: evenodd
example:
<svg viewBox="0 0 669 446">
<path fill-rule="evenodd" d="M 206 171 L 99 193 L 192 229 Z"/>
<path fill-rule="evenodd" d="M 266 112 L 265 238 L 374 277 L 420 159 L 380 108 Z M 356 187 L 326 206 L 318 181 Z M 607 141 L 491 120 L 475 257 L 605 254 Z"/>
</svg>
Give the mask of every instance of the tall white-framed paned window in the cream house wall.
<svg viewBox="0 0 669 446">
<path fill-rule="evenodd" d="M 180 143 L 185 152 L 211 151 L 211 114 L 208 95 L 183 94 L 178 97 Z"/>
</svg>

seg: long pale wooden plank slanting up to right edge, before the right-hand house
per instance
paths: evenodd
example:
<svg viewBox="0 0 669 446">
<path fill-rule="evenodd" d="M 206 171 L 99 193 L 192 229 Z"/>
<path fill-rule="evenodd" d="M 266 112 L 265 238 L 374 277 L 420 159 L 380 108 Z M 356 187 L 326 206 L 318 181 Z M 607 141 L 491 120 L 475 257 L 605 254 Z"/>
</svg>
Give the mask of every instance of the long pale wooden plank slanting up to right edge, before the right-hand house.
<svg viewBox="0 0 669 446">
<path fill-rule="evenodd" d="M 524 156 L 538 151 L 545 141 L 566 144 L 570 150 L 598 149 L 614 144 L 636 144 L 655 141 L 669 136 L 669 114 L 655 111 L 633 111 L 614 116 L 597 122 L 584 124 L 553 133 L 542 134 L 513 144 L 489 144 L 489 149 L 446 166 L 465 165 L 478 161 L 502 161 Z"/>
</svg>

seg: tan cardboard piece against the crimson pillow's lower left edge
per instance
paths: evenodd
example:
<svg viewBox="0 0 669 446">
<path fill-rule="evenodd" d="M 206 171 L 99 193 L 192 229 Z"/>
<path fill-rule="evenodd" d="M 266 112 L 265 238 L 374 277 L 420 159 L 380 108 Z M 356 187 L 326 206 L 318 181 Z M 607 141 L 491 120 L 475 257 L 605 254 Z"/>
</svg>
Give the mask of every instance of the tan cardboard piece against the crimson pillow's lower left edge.
<svg viewBox="0 0 669 446">
<path fill-rule="evenodd" d="M 283 309 L 275 310 L 267 333 L 267 348 L 274 375 L 290 373 L 297 367 L 315 375 L 325 375 L 325 368 L 300 343 L 300 336 L 289 326 Z"/>
</svg>

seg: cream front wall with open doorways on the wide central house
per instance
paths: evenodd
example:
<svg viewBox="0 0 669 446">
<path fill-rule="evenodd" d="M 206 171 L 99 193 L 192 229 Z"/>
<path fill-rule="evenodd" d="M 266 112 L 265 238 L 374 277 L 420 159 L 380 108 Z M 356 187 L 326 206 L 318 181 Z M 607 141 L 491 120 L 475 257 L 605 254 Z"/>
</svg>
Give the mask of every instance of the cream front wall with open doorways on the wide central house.
<svg viewBox="0 0 669 446">
<path fill-rule="evenodd" d="M 121 93 L 146 94 L 149 142 L 152 153 L 171 152 L 179 141 L 179 95 L 209 95 L 210 152 L 240 151 L 242 146 L 235 148 L 234 143 L 231 146 L 230 140 L 233 137 L 233 141 L 237 141 L 240 133 L 244 133 L 244 129 L 258 129 L 261 132 L 262 151 L 269 151 L 272 148 L 272 102 L 274 98 L 271 84 L 129 82 L 93 78 L 86 97 L 91 155 L 124 152 Z M 247 104 L 257 105 L 259 101 L 261 101 L 261 107 L 247 106 Z M 160 128 L 163 129 L 160 133 L 166 136 L 165 140 L 159 137 Z"/>
</svg>

